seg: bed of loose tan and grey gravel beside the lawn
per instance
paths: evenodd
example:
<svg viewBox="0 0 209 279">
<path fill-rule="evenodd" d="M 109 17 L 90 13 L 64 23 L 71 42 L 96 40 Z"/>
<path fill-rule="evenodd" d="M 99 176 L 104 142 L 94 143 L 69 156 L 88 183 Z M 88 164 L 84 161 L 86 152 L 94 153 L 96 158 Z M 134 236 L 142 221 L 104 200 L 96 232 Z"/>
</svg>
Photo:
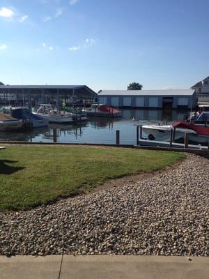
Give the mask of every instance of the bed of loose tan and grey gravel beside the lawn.
<svg viewBox="0 0 209 279">
<path fill-rule="evenodd" d="M 208 256 L 209 160 L 31 211 L 0 213 L 0 255 Z"/>
</svg>

